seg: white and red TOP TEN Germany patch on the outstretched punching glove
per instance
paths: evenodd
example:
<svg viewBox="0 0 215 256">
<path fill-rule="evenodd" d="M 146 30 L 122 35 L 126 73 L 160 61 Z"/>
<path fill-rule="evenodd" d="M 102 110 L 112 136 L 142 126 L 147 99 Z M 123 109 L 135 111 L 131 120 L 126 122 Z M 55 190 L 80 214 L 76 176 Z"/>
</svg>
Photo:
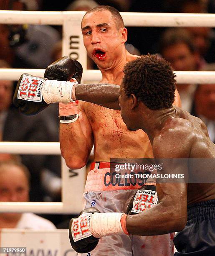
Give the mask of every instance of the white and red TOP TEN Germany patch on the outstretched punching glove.
<svg viewBox="0 0 215 256">
<path fill-rule="evenodd" d="M 29 100 L 29 101 L 42 101 L 41 88 L 46 79 L 40 77 L 30 77 L 28 75 L 23 75 L 20 87 L 18 90 L 19 100 Z"/>
</svg>

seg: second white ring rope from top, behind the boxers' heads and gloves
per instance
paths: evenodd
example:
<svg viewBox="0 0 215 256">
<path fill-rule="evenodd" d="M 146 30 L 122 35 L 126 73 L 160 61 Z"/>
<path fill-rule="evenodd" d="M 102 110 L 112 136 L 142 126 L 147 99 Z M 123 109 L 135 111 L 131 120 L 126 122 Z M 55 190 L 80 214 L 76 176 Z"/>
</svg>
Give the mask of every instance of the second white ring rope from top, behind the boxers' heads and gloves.
<svg viewBox="0 0 215 256">
<path fill-rule="evenodd" d="M 21 74 L 44 77 L 45 69 L 0 69 L 0 80 L 17 81 Z M 175 71 L 178 84 L 215 84 L 215 71 Z M 100 81 L 101 72 L 99 70 L 83 70 L 82 82 Z"/>
</svg>

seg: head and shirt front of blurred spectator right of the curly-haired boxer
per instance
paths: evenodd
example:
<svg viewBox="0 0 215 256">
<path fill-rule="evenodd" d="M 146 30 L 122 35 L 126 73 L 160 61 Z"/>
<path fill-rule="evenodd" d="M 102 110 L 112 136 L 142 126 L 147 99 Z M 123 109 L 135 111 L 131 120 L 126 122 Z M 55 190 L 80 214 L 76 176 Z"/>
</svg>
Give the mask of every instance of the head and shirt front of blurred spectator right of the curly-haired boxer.
<svg viewBox="0 0 215 256">
<path fill-rule="evenodd" d="M 169 28 L 162 34 L 159 42 L 159 54 L 169 61 L 175 70 L 199 70 L 200 56 L 190 34 L 183 28 Z M 191 111 L 195 88 L 194 84 L 179 84 L 177 86 L 182 109 L 188 112 Z"/>
</svg>

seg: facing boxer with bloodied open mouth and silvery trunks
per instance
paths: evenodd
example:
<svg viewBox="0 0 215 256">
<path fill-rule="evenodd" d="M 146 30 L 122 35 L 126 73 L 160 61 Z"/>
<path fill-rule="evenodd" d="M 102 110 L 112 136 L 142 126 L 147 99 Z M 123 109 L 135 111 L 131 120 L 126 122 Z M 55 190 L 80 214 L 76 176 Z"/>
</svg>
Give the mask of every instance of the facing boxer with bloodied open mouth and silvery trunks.
<svg viewBox="0 0 215 256">
<path fill-rule="evenodd" d="M 127 30 L 120 13 L 107 6 L 93 8 L 84 15 L 81 30 L 87 54 L 101 71 L 100 83 L 120 85 L 125 64 L 139 57 L 130 54 L 125 48 Z M 81 85 L 76 85 L 75 92 L 78 92 L 80 87 Z M 94 104 L 105 103 L 103 92 L 100 94 L 102 97 L 96 97 L 98 94 L 94 93 L 95 88 L 96 86 L 93 91 L 89 90 L 91 94 L 85 90 L 85 96 L 76 95 L 76 99 L 79 100 L 78 109 L 71 106 L 72 109 L 69 110 L 70 104 L 61 105 L 64 114 L 67 113 L 67 109 L 68 115 L 78 114 L 75 122 L 61 123 L 61 153 L 71 169 L 79 169 L 86 165 L 94 145 L 94 162 L 91 164 L 83 195 L 84 207 L 94 205 L 99 212 L 126 211 L 127 203 L 141 185 L 137 182 L 132 185 L 121 179 L 123 185 L 112 182 L 113 186 L 111 182 L 107 182 L 106 186 L 104 180 L 110 172 L 110 159 L 111 157 L 152 158 L 152 148 L 146 133 L 140 130 L 131 132 L 126 128 L 120 116 L 118 100 L 112 102 L 114 107 L 111 104 L 105 105 L 118 110 Z M 115 89 L 117 91 L 116 87 Z M 91 95 L 95 95 L 94 102 Z M 116 94 L 109 90 L 109 97 L 111 95 Z M 179 95 L 176 100 L 178 99 Z M 99 239 L 98 246 L 90 252 L 90 255 L 166 256 L 172 255 L 172 246 L 169 234 L 151 238 L 113 234 Z M 83 255 L 89 252 L 87 246 L 85 249 L 86 254 Z M 83 253 L 83 251 L 79 252 Z"/>
</svg>

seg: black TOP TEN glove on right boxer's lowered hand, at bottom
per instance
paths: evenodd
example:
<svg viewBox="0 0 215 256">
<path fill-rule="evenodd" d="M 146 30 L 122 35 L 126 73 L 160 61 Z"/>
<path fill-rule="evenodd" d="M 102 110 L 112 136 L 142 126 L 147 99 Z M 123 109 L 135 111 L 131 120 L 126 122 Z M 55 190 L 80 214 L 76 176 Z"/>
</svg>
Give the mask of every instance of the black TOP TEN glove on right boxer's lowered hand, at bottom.
<svg viewBox="0 0 215 256">
<path fill-rule="evenodd" d="M 91 216 L 99 212 L 94 207 L 83 210 L 78 218 L 72 218 L 69 223 L 69 240 L 77 253 L 88 253 L 96 248 L 99 238 L 90 231 Z"/>
</svg>

